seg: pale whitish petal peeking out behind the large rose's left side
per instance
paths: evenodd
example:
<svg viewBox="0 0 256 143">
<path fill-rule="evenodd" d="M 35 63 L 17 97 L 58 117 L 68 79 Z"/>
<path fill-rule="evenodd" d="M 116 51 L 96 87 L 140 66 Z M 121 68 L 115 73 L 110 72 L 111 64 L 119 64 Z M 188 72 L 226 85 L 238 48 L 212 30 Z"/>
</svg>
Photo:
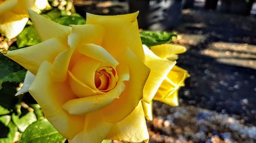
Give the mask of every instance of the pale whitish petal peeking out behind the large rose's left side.
<svg viewBox="0 0 256 143">
<path fill-rule="evenodd" d="M 25 80 L 24 80 L 24 83 L 23 83 L 23 86 L 15 94 L 15 96 L 24 94 L 26 92 L 29 92 L 29 87 L 32 84 L 32 82 L 34 81 L 34 79 L 35 79 L 35 75 L 33 73 L 31 73 L 30 71 L 27 71 L 26 76 L 25 76 Z"/>
</svg>

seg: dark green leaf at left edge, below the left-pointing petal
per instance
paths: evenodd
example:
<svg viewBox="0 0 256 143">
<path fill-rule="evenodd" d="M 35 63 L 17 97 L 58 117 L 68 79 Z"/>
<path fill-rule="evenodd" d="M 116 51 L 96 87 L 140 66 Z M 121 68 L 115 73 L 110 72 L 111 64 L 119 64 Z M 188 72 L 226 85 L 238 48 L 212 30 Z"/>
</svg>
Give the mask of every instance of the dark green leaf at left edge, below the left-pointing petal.
<svg viewBox="0 0 256 143">
<path fill-rule="evenodd" d="M 2 89 L 3 82 L 22 82 L 25 75 L 26 70 L 22 66 L 0 54 L 0 89 Z"/>
</svg>

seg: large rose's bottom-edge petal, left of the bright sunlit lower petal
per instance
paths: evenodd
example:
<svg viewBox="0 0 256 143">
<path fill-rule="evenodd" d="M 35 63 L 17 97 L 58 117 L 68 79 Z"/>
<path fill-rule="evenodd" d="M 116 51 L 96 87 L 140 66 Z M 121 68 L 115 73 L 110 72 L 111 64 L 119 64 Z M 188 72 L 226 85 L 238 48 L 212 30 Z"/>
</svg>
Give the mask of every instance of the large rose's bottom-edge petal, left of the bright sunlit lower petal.
<svg viewBox="0 0 256 143">
<path fill-rule="evenodd" d="M 104 122 L 99 112 L 89 113 L 86 116 L 84 130 L 69 140 L 69 143 L 101 143 L 112 126 L 113 124 Z"/>
</svg>

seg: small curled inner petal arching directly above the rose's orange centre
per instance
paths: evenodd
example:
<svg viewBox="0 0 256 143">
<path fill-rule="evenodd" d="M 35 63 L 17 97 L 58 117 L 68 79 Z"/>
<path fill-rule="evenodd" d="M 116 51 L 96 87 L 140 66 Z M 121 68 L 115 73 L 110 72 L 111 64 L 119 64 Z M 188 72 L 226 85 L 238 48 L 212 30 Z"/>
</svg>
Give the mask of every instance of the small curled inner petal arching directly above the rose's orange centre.
<svg viewBox="0 0 256 143">
<path fill-rule="evenodd" d="M 89 56 L 100 62 L 103 62 L 113 68 L 119 64 L 116 59 L 104 48 L 94 44 L 84 44 L 78 47 L 78 51 L 83 55 Z"/>
</svg>

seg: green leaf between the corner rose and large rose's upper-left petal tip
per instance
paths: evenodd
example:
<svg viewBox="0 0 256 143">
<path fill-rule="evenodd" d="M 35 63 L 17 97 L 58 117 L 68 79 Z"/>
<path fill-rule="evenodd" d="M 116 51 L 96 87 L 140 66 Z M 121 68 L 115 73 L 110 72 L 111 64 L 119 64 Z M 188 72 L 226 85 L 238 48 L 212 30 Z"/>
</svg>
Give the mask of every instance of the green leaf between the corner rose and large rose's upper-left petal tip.
<svg viewBox="0 0 256 143">
<path fill-rule="evenodd" d="M 31 45 L 35 45 L 40 43 L 40 39 L 37 35 L 37 32 L 33 25 L 29 25 L 24 28 L 22 33 L 20 33 L 17 37 L 17 46 L 20 47 L 27 47 Z"/>
</svg>

